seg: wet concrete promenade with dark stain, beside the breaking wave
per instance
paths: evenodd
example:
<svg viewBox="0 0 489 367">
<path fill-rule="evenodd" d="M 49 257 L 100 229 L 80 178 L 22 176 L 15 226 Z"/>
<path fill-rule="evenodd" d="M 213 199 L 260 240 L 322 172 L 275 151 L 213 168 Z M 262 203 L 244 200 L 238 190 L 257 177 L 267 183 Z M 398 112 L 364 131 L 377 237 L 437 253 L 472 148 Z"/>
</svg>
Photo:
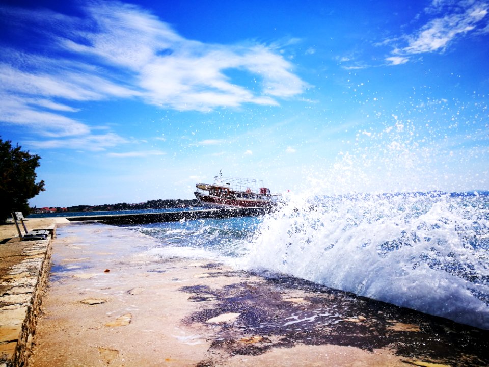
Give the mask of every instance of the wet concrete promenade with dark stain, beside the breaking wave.
<svg viewBox="0 0 489 367">
<path fill-rule="evenodd" d="M 489 365 L 489 331 L 302 279 L 155 257 L 154 241 L 59 227 L 29 365 Z"/>
</svg>

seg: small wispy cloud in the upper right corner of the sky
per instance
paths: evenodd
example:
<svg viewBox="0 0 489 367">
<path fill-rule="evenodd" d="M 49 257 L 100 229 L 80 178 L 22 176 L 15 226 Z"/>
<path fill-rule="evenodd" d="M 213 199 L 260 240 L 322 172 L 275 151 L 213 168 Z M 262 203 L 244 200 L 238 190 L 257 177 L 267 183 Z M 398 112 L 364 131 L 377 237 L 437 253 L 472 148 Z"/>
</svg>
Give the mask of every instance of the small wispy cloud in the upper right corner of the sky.
<svg viewBox="0 0 489 367">
<path fill-rule="evenodd" d="M 404 35 L 401 39 L 407 45 L 397 46 L 385 59 L 390 65 L 404 64 L 410 55 L 443 52 L 468 33 L 481 33 L 487 28 L 489 5 L 484 2 L 458 2 L 453 6 L 452 2 L 437 1 L 425 11 L 430 16 L 437 16 L 440 12 L 443 15 L 429 20 L 412 34 Z"/>
</svg>

